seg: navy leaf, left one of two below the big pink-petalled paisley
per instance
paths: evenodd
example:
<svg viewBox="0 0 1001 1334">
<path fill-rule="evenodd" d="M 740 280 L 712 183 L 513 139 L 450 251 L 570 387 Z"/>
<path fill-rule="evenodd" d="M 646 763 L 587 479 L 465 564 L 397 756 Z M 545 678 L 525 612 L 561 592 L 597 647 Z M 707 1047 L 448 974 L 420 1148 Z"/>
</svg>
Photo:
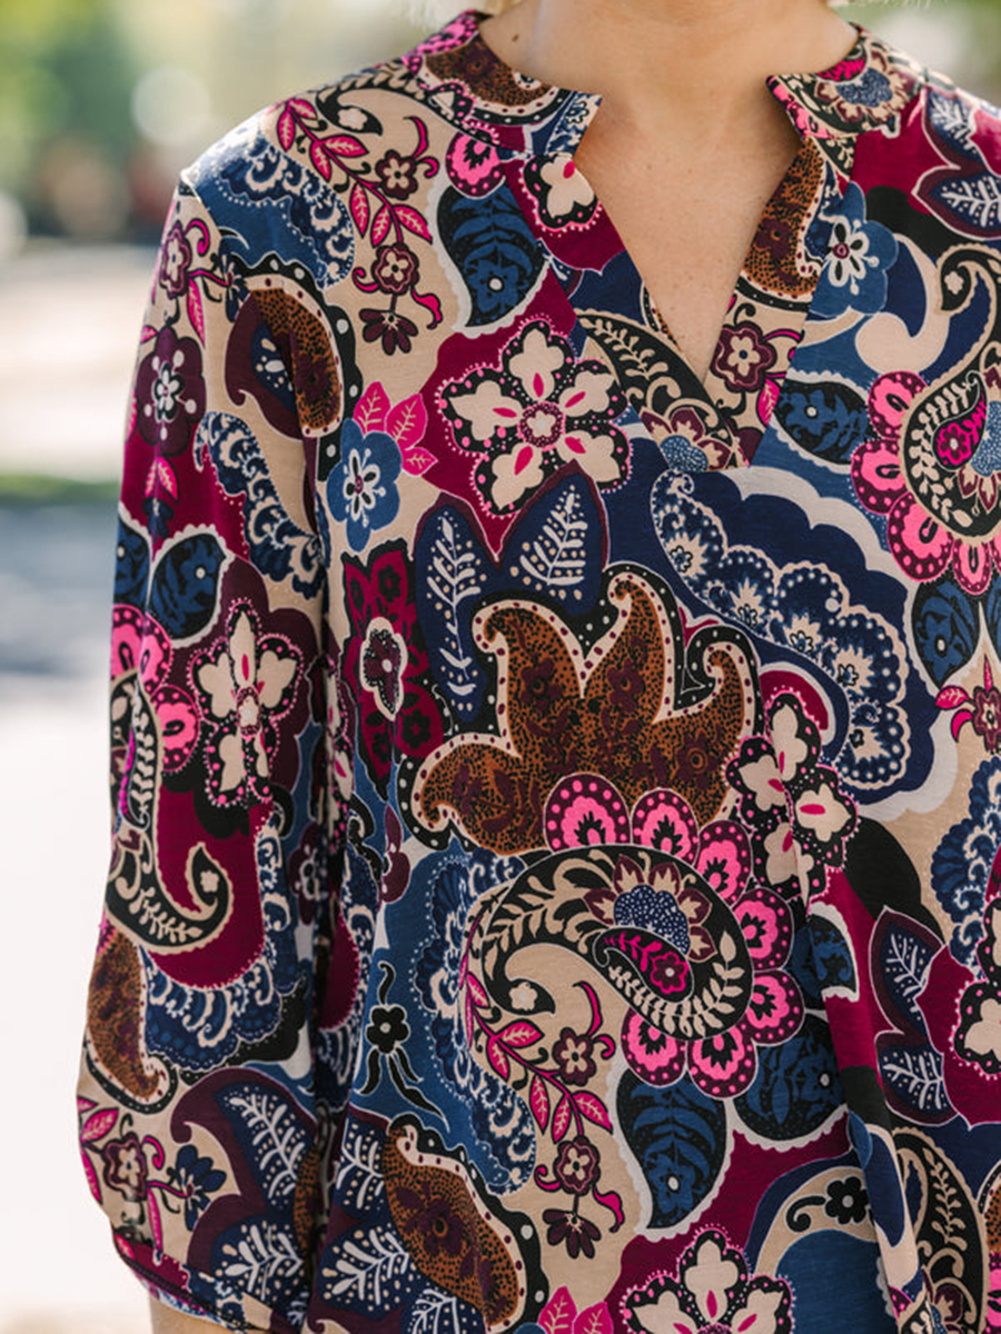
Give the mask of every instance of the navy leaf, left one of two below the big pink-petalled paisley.
<svg viewBox="0 0 1001 1334">
<path fill-rule="evenodd" d="M 654 1089 L 630 1073 L 619 1085 L 618 1115 L 653 1197 L 647 1226 L 673 1227 L 697 1213 L 726 1158 L 723 1103 L 690 1079 Z"/>
</svg>

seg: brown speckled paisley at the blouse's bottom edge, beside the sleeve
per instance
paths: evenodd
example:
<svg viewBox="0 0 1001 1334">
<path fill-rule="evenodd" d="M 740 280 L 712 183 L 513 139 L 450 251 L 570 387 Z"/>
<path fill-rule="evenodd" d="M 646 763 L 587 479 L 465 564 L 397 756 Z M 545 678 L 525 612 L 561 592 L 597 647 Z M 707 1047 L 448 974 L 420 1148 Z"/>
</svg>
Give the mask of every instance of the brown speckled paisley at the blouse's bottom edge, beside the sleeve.
<svg viewBox="0 0 1001 1334">
<path fill-rule="evenodd" d="M 464 1162 L 400 1117 L 386 1137 L 382 1173 L 392 1222 L 420 1273 L 480 1311 L 487 1330 L 519 1323 L 530 1266 L 513 1221 Z"/>
</svg>

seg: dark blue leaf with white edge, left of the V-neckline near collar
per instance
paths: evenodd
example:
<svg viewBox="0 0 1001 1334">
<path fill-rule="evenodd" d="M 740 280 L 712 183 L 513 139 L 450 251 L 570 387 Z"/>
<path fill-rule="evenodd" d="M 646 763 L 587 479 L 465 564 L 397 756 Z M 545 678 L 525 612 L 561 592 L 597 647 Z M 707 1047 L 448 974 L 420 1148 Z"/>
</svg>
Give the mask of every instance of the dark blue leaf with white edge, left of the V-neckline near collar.
<svg viewBox="0 0 1001 1334">
<path fill-rule="evenodd" d="M 438 224 L 470 293 L 468 323 L 503 319 L 529 295 L 545 263 L 510 188 L 468 199 L 450 187 L 438 207 Z"/>
</svg>

